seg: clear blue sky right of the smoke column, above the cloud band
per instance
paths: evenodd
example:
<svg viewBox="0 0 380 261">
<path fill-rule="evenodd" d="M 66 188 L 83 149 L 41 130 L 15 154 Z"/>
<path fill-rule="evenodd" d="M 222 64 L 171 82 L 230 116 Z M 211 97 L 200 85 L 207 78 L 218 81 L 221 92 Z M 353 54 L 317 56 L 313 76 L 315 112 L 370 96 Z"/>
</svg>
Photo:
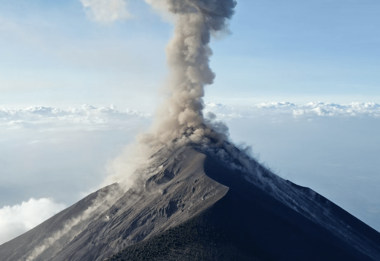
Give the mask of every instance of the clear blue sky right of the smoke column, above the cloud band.
<svg viewBox="0 0 380 261">
<path fill-rule="evenodd" d="M 214 46 L 215 87 L 234 86 L 234 96 L 379 99 L 379 12 L 376 1 L 239 1 L 233 37 Z"/>
</svg>

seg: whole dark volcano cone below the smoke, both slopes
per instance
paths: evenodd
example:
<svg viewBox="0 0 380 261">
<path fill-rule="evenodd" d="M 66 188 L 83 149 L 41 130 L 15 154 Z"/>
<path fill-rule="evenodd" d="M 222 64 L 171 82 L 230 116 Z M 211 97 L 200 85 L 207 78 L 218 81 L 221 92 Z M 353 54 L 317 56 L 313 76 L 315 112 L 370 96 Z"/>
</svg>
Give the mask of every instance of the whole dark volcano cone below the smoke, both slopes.
<svg viewBox="0 0 380 261">
<path fill-rule="evenodd" d="M 0 260 L 380 260 L 379 232 L 230 144 L 162 149 L 155 158 L 146 181 L 95 212 L 75 237 L 61 238 L 30 258 L 47 228 L 45 237 L 52 224 L 59 230 L 67 220 L 64 210 L 1 245 Z M 113 190 L 117 185 L 100 191 Z M 77 205 L 91 205 L 95 195 Z"/>
</svg>

